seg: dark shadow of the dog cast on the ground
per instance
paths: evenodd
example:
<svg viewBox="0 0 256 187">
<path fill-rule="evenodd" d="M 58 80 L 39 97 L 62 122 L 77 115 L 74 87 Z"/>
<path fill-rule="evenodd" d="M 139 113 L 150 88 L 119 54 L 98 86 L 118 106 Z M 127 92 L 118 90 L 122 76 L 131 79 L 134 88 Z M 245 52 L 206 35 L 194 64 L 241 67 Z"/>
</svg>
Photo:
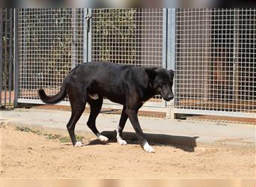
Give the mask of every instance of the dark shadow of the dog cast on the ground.
<svg viewBox="0 0 256 187">
<path fill-rule="evenodd" d="M 103 131 L 102 135 L 109 138 L 108 142 L 116 142 L 116 132 L 115 131 Z M 145 133 L 145 138 L 151 145 L 169 145 L 177 147 L 186 152 L 194 152 L 196 144 L 196 139 L 198 137 L 189 137 L 189 136 L 179 136 L 179 135 L 164 135 L 164 134 L 150 134 Z M 127 141 L 127 144 L 139 144 L 138 138 L 134 132 L 123 132 L 122 134 L 124 140 Z M 98 139 L 90 141 L 87 145 L 98 145 L 106 144 L 101 142 Z"/>
</svg>

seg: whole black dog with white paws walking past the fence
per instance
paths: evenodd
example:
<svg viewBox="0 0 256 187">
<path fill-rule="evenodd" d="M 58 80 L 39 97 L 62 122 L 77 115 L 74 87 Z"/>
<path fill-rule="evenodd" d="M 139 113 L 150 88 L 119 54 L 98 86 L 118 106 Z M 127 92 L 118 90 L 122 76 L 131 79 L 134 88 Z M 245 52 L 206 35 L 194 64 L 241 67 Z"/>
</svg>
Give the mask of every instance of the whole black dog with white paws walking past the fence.
<svg viewBox="0 0 256 187">
<path fill-rule="evenodd" d="M 60 102 L 68 94 L 72 115 L 67 123 L 67 130 L 70 133 L 73 146 L 82 146 L 81 142 L 76 141 L 74 129 L 76 122 L 85 110 L 86 102 L 91 106 L 88 127 L 101 141 L 108 141 L 108 138 L 100 135 L 95 126 L 95 120 L 100 113 L 103 96 L 105 96 L 112 102 L 124 105 L 117 129 L 118 144 L 127 144 L 122 139 L 122 131 L 129 117 L 144 150 L 153 152 L 153 148 L 147 143 L 138 123 L 138 109 L 156 94 L 160 94 L 166 101 L 173 99 L 174 94 L 171 89 L 173 78 L 174 72 L 163 68 L 89 62 L 79 64 L 67 75 L 59 93 L 54 96 L 46 96 L 43 89 L 40 89 L 39 96 L 43 102 L 54 104 Z"/>
</svg>

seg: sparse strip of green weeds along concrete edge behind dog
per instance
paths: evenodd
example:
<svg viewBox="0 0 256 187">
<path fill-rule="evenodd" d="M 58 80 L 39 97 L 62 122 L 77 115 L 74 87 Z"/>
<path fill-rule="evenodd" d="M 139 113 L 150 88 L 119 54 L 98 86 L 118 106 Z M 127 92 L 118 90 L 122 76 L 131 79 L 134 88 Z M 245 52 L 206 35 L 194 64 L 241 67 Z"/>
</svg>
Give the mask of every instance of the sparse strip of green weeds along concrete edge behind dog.
<svg viewBox="0 0 256 187">
<path fill-rule="evenodd" d="M 43 135 L 43 137 L 49 139 L 49 140 L 55 140 L 58 139 L 61 143 L 67 143 L 70 142 L 70 137 L 68 136 L 61 136 L 61 135 L 57 135 L 57 134 L 47 134 L 47 133 L 42 133 L 40 132 L 40 130 L 34 130 L 34 129 L 30 129 L 27 126 L 16 126 L 15 128 L 17 131 L 21 131 L 21 132 L 32 132 L 36 135 Z M 76 135 L 76 141 L 82 141 L 82 139 L 84 138 L 84 136 L 82 135 Z"/>
</svg>

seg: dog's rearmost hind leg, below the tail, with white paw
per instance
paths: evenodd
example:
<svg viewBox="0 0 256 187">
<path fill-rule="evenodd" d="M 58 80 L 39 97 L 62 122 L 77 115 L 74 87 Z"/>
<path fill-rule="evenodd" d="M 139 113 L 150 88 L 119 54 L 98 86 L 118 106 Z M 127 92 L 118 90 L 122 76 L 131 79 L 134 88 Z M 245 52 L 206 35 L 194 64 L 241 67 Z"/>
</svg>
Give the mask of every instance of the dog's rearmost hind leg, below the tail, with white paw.
<svg viewBox="0 0 256 187">
<path fill-rule="evenodd" d="M 85 102 L 75 101 L 70 103 L 72 108 L 72 114 L 69 122 L 67 123 L 67 131 L 70 134 L 70 138 L 73 146 L 80 147 L 82 146 L 82 143 L 76 141 L 75 126 L 76 126 L 76 122 L 79 120 L 83 111 L 85 110 Z"/>
</svg>

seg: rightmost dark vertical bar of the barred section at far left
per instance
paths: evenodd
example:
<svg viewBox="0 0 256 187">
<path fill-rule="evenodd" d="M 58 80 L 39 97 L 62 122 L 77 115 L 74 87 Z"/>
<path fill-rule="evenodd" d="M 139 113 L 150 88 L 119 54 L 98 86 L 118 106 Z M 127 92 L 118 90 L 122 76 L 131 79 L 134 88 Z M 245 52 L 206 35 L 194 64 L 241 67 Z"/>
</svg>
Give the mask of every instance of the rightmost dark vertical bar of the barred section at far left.
<svg viewBox="0 0 256 187">
<path fill-rule="evenodd" d="M 13 82 L 13 8 L 10 8 L 9 13 L 9 24 L 10 24 L 10 48 L 9 48 L 9 105 L 11 101 L 11 91 L 12 91 L 12 82 Z"/>
</svg>

